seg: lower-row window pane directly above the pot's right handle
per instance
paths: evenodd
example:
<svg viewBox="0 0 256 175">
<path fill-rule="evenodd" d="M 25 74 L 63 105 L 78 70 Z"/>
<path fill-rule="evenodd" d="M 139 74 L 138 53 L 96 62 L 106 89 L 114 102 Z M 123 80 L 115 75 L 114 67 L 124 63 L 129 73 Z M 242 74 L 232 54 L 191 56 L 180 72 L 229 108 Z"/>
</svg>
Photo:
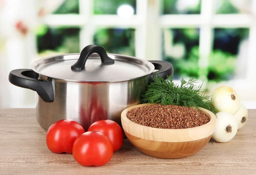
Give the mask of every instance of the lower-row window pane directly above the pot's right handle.
<svg viewBox="0 0 256 175">
<path fill-rule="evenodd" d="M 198 77 L 199 29 L 164 29 L 164 59 L 172 63 L 174 78 Z"/>
</svg>

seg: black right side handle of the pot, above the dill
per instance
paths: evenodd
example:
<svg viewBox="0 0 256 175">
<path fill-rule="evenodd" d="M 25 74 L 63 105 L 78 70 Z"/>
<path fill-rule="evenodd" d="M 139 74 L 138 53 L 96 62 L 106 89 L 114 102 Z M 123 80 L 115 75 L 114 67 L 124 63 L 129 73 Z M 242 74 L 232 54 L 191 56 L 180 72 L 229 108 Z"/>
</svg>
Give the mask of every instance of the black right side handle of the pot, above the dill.
<svg viewBox="0 0 256 175">
<path fill-rule="evenodd" d="M 153 81 L 153 77 L 157 74 L 164 79 L 166 79 L 167 76 L 173 74 L 173 66 L 171 63 L 167 61 L 154 61 L 154 60 L 149 62 L 151 62 L 155 66 L 155 69 L 158 70 L 150 74 L 150 82 Z"/>
</svg>

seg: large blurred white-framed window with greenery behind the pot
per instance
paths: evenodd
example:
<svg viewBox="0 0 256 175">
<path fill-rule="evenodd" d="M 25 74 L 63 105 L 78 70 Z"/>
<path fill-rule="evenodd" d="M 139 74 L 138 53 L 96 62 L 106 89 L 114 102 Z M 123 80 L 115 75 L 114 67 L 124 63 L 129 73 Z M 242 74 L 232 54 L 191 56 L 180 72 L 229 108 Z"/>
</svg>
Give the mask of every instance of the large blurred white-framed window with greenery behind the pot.
<svg viewBox="0 0 256 175">
<path fill-rule="evenodd" d="M 107 52 L 166 60 L 177 80 L 195 77 L 208 93 L 226 84 L 241 100 L 256 101 L 252 14 L 254 0 L 65 0 L 44 17 L 36 47 L 43 57 L 94 43 Z"/>
</svg>

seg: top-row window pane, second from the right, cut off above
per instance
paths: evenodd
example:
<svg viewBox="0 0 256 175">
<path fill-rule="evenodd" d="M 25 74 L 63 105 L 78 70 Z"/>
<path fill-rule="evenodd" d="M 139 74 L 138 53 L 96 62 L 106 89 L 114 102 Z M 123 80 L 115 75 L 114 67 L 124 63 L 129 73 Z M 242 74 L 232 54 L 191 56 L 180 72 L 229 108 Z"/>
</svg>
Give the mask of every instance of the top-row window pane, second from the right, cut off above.
<svg viewBox="0 0 256 175">
<path fill-rule="evenodd" d="M 162 0 L 162 14 L 200 14 L 201 0 Z"/>
</svg>

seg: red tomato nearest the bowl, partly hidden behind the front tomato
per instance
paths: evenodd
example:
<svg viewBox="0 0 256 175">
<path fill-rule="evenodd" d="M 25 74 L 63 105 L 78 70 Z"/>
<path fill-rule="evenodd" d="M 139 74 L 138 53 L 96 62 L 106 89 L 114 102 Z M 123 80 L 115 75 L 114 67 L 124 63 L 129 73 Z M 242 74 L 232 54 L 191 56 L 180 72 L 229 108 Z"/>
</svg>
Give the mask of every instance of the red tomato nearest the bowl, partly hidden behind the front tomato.
<svg viewBox="0 0 256 175">
<path fill-rule="evenodd" d="M 99 120 L 94 122 L 88 131 L 99 131 L 106 135 L 112 143 L 113 151 L 122 147 L 124 135 L 121 126 L 113 120 Z"/>
</svg>

